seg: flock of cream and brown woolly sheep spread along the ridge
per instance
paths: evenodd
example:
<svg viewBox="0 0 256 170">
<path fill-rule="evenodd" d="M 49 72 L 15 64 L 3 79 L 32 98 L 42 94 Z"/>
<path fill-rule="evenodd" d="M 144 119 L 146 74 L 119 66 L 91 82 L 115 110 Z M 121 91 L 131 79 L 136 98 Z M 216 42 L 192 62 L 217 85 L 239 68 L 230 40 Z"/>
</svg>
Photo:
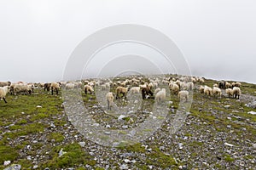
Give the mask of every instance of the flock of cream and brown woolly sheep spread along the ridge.
<svg viewBox="0 0 256 170">
<path fill-rule="evenodd" d="M 96 88 L 108 90 L 105 95 L 108 110 L 111 110 L 114 99 L 126 99 L 127 93 L 141 94 L 143 99 L 154 99 L 157 104 L 166 101 L 166 88 L 170 92 L 177 95 L 180 101 L 186 102 L 189 99 L 191 91 L 199 89 L 201 94 L 207 96 L 215 96 L 221 98 L 222 90 L 225 89 L 226 94 L 232 98 L 238 98 L 241 95 L 240 82 L 218 82 L 213 87 L 203 85 L 205 82 L 202 77 L 126 77 L 125 80 L 112 81 L 110 79 L 84 80 L 79 82 L 50 82 L 50 83 L 25 83 L 25 82 L 0 82 L 0 99 L 7 103 L 6 94 L 32 94 L 34 88 L 41 88 L 49 91 L 51 94 L 59 94 L 60 89 L 73 90 L 75 88 L 83 88 L 84 94 L 93 94 Z M 196 84 L 200 84 L 196 86 Z M 111 89 L 111 90 L 109 90 Z"/>
</svg>

